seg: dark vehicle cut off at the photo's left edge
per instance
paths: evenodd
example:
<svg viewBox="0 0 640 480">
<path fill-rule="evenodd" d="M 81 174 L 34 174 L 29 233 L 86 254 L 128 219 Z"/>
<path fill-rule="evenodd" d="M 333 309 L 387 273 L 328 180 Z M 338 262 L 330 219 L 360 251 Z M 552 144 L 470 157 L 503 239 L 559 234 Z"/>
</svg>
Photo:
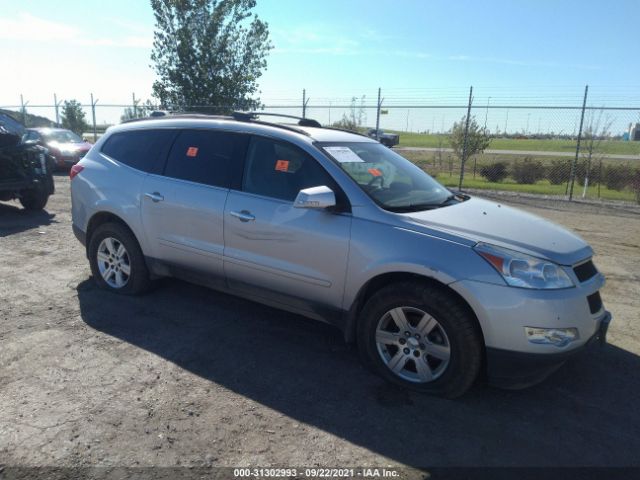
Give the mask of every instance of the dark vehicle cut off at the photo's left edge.
<svg viewBox="0 0 640 480">
<path fill-rule="evenodd" d="M 28 141 L 22 124 L 0 113 L 0 200 L 18 199 L 28 210 L 41 210 L 54 192 L 45 148 Z"/>
</svg>

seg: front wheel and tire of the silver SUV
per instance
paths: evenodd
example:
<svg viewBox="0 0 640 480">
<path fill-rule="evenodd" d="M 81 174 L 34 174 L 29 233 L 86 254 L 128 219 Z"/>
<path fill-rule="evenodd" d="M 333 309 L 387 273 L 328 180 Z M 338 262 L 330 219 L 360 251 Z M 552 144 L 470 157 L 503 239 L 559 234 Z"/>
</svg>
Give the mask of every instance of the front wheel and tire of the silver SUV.
<svg viewBox="0 0 640 480">
<path fill-rule="evenodd" d="M 427 284 L 375 292 L 361 311 L 357 336 L 364 363 L 401 387 L 455 398 L 480 373 L 483 341 L 475 318 L 455 297 Z"/>
</svg>

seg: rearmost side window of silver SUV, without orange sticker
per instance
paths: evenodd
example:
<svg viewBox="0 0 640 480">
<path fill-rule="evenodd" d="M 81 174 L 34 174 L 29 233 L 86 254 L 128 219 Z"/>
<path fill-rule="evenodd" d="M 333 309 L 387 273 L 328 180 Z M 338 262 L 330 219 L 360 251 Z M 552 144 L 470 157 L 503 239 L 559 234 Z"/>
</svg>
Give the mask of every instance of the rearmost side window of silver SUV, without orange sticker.
<svg viewBox="0 0 640 480">
<path fill-rule="evenodd" d="M 130 130 L 111 135 L 101 152 L 143 172 L 153 172 L 166 156 L 174 130 Z"/>
</svg>

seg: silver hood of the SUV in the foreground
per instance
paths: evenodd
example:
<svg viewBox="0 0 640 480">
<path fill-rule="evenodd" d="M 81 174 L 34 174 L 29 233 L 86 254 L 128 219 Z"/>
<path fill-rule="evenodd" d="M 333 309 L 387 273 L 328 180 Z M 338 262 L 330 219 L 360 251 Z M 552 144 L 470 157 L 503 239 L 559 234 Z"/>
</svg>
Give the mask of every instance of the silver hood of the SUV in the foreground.
<svg viewBox="0 0 640 480">
<path fill-rule="evenodd" d="M 560 265 L 573 265 L 593 255 L 591 247 L 575 233 L 536 215 L 480 198 L 402 216 L 417 227 L 518 250 Z"/>
</svg>

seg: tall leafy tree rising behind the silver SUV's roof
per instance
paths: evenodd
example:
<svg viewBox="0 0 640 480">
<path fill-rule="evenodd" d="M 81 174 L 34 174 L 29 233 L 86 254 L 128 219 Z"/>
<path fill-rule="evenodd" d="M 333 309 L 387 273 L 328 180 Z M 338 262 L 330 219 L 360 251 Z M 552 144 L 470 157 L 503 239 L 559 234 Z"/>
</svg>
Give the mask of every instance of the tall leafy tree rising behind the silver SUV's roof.
<svg viewBox="0 0 640 480">
<path fill-rule="evenodd" d="M 258 79 L 272 48 L 255 0 L 151 0 L 154 96 L 163 108 L 229 113 L 260 106 Z"/>
</svg>

